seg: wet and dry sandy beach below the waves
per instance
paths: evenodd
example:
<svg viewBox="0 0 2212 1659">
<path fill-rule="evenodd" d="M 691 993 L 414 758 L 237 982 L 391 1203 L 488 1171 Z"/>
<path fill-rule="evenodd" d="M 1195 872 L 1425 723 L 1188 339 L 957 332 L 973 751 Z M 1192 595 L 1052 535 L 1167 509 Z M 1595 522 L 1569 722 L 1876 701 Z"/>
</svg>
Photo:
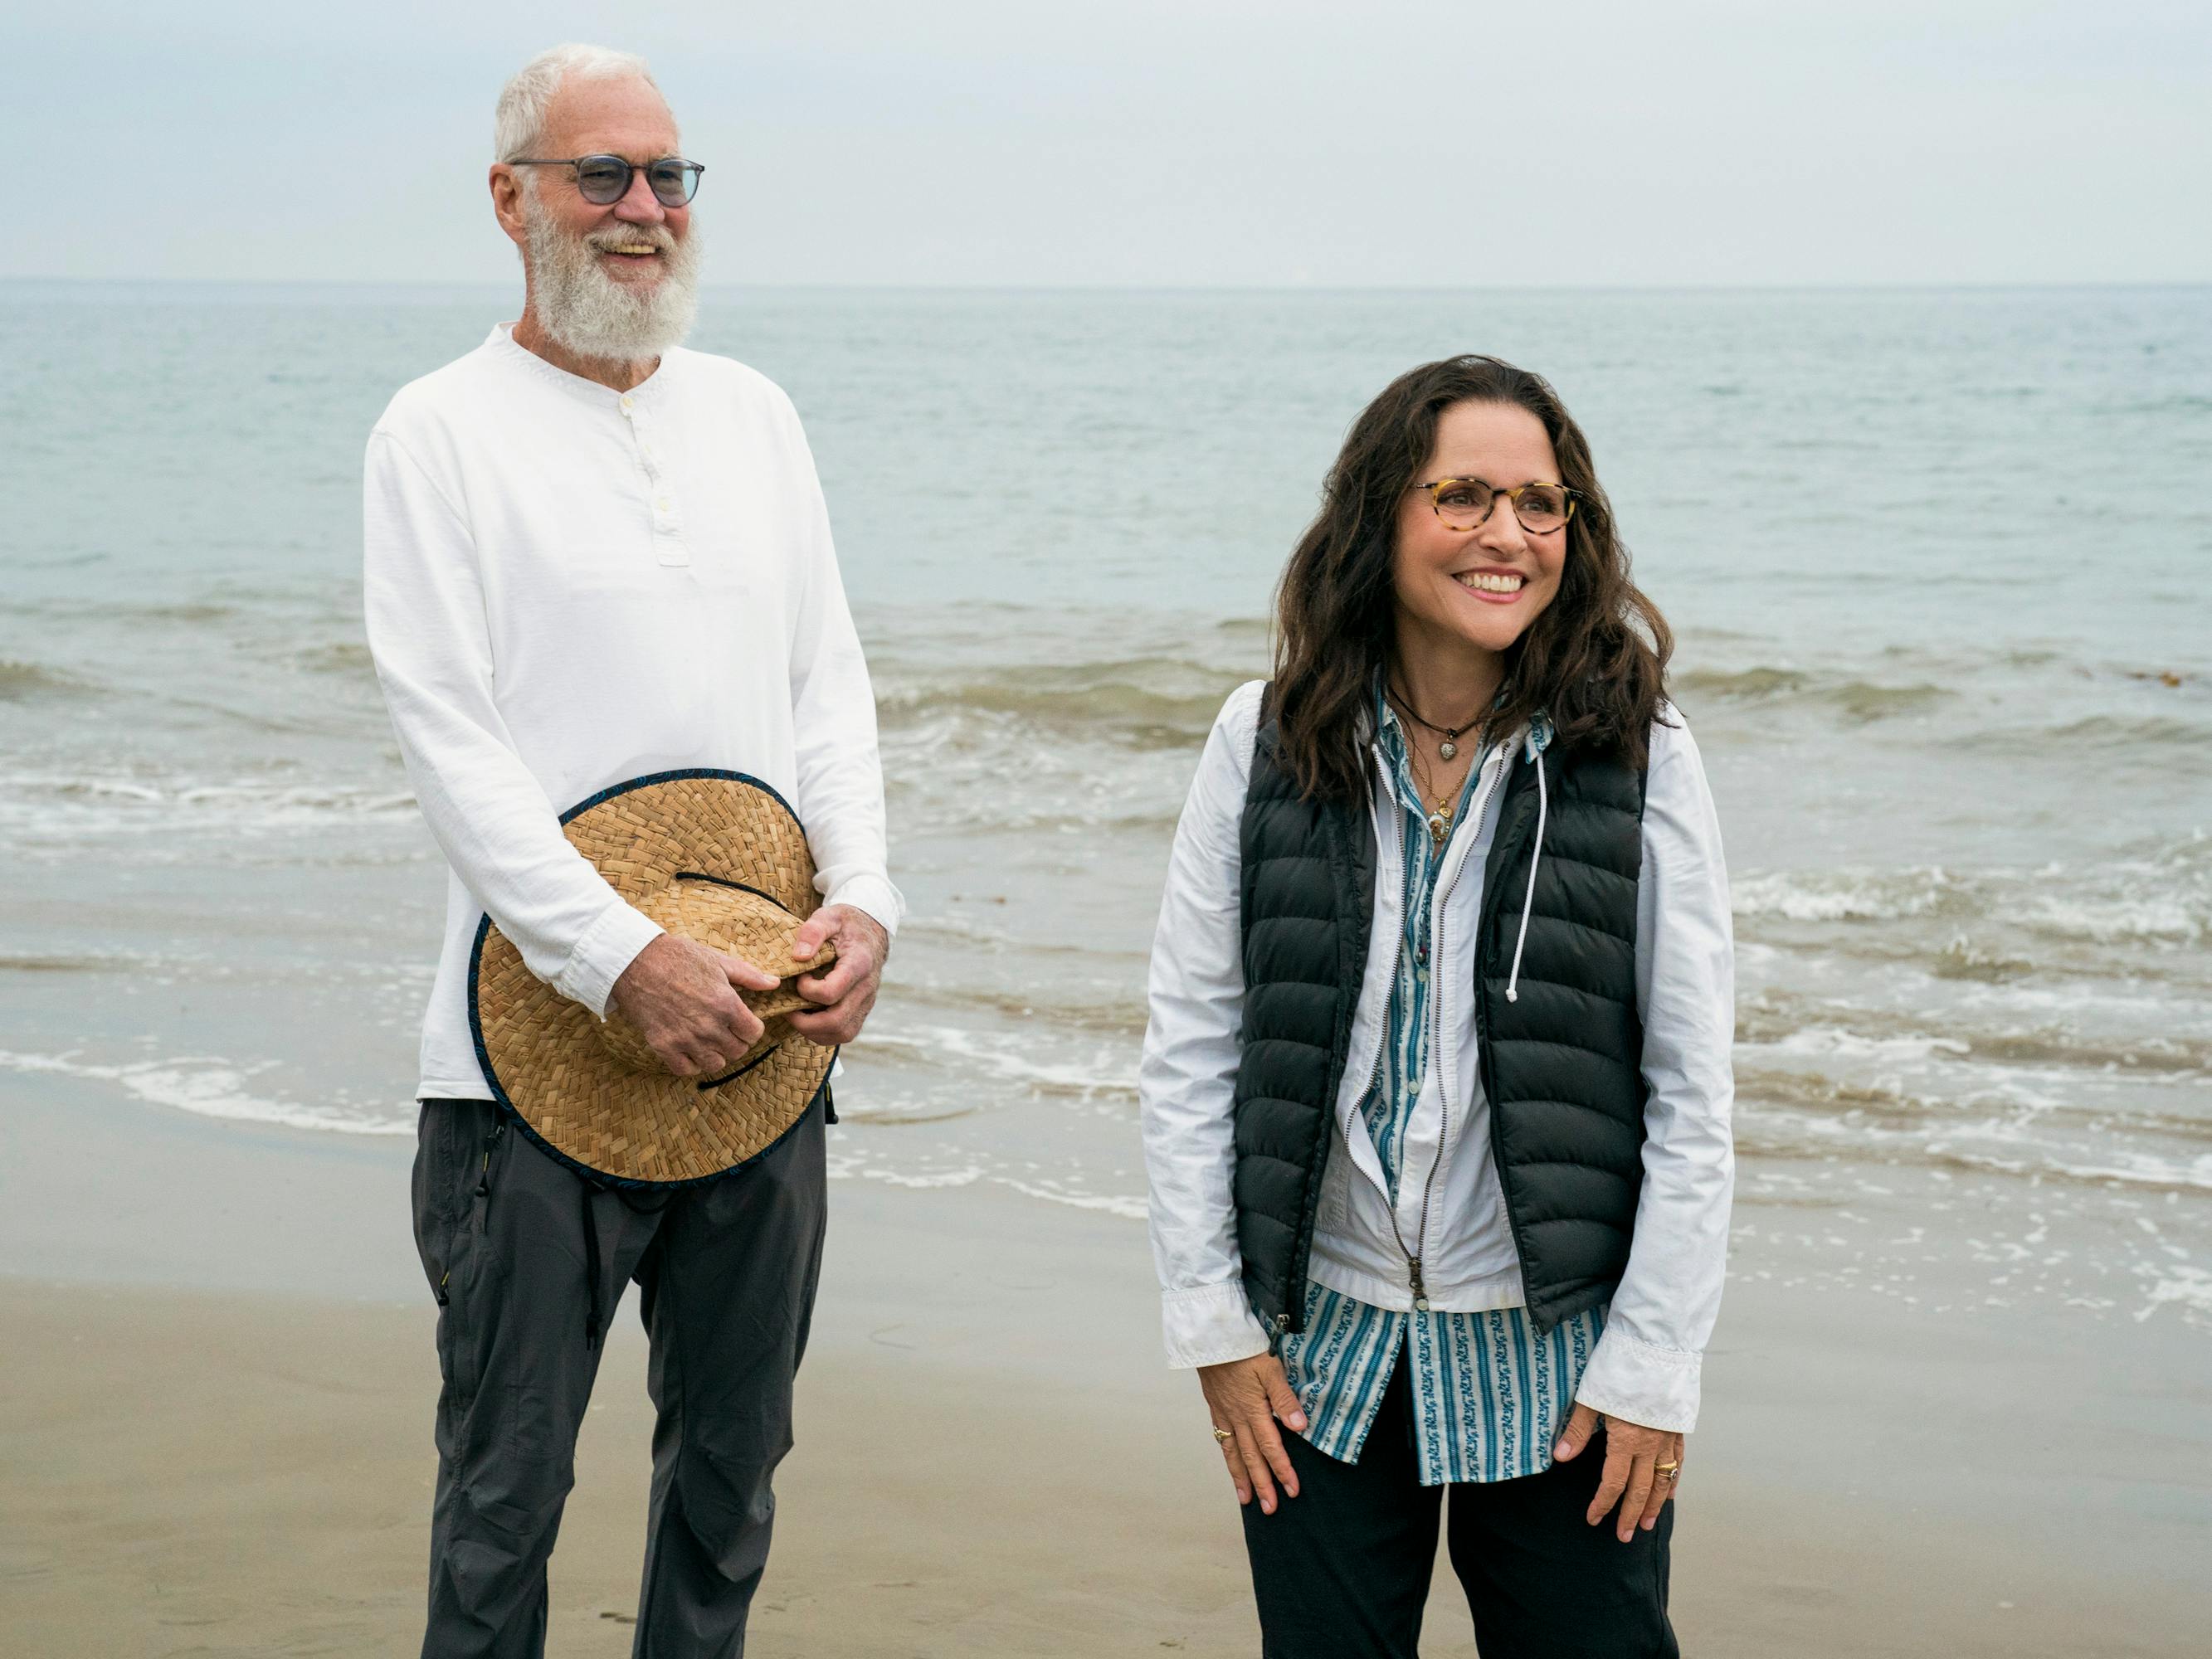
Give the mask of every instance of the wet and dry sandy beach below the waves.
<svg viewBox="0 0 2212 1659">
<path fill-rule="evenodd" d="M 434 1310 L 409 1144 L 0 1084 L 0 1621 L 20 1655 L 411 1652 Z M 1692 1655 L 2194 1655 L 2212 1378 L 2177 1321 L 1958 1325 L 1739 1283 L 1690 1444 Z M 622 1655 L 650 1407 L 617 1321 L 553 1557 Z M 1243 1553 L 1144 1230 L 832 1186 L 759 1655 L 1248 1655 Z M 1473 1655 L 1440 1573 L 1429 1655 Z"/>
</svg>

